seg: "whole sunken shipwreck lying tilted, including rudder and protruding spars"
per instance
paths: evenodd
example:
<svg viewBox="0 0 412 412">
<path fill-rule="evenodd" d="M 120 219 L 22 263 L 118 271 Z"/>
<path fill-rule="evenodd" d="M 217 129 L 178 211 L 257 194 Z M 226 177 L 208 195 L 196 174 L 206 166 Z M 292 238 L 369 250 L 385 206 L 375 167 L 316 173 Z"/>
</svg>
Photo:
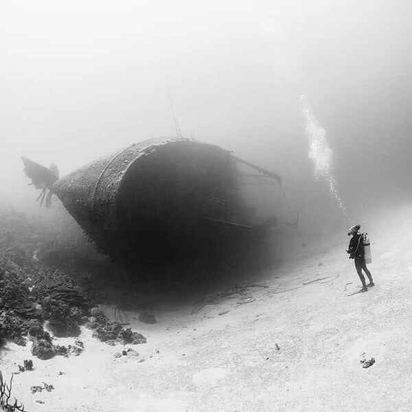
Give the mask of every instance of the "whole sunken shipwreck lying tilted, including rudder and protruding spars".
<svg viewBox="0 0 412 412">
<path fill-rule="evenodd" d="M 274 205 L 264 203 L 280 177 L 212 144 L 150 139 L 60 179 L 55 165 L 22 159 L 41 203 L 49 207 L 55 194 L 98 249 L 123 264 L 242 253 L 276 224 Z"/>
</svg>

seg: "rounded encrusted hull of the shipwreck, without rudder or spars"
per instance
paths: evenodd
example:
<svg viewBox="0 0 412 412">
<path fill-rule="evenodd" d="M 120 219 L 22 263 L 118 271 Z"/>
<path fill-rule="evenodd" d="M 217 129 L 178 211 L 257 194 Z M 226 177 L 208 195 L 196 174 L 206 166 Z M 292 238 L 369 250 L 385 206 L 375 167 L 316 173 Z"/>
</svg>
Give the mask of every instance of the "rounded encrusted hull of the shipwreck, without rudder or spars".
<svg viewBox="0 0 412 412">
<path fill-rule="evenodd" d="M 172 138 L 150 139 L 98 159 L 58 180 L 54 192 L 104 253 L 127 261 L 146 258 L 154 248 L 155 255 L 185 253 L 190 237 L 203 230 L 195 227 L 200 222 L 215 230 L 211 220 L 232 219 L 228 205 L 236 202 L 236 186 L 230 152 Z"/>
</svg>

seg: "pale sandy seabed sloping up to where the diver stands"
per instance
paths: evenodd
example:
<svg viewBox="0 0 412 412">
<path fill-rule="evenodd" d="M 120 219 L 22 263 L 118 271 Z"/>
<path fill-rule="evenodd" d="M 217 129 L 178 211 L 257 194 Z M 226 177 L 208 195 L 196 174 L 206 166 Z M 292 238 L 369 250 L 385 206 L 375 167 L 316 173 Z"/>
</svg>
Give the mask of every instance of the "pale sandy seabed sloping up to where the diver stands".
<svg viewBox="0 0 412 412">
<path fill-rule="evenodd" d="M 412 209 L 380 222 L 369 230 L 376 286 L 367 293 L 351 295 L 361 284 L 342 236 L 268 273 L 269 287 L 254 288 L 247 304 L 158 310 L 153 325 L 126 312 L 147 337 L 133 346 L 138 356 L 115 358 L 130 345 L 82 329 L 80 356 L 41 361 L 30 342 L 8 343 L 0 368 L 8 377 L 33 359 L 13 385 L 29 412 L 411 411 Z M 376 363 L 363 368 L 363 356 Z M 30 391 L 43 382 L 54 390 Z"/>
</svg>

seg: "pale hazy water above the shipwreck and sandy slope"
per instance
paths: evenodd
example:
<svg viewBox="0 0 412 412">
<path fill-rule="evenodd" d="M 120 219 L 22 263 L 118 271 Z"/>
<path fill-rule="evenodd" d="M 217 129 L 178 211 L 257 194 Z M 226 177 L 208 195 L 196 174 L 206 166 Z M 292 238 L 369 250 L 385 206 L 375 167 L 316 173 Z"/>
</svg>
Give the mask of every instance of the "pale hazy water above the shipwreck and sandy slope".
<svg viewBox="0 0 412 412">
<path fill-rule="evenodd" d="M 409 202 L 410 17 L 408 1 L 5 1 L 0 202 L 38 212 L 20 155 L 64 176 L 176 125 L 282 175 L 312 229 Z"/>
</svg>

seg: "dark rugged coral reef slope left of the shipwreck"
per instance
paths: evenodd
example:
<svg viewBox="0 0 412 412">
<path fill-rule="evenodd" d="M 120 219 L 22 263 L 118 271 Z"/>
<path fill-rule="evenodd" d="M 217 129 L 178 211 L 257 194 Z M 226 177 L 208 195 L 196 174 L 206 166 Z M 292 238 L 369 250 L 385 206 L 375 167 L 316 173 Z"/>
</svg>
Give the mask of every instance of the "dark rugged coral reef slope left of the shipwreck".
<svg viewBox="0 0 412 412">
<path fill-rule="evenodd" d="M 83 259 L 90 246 L 78 229 L 71 229 L 72 220 L 71 226 L 60 221 L 57 225 L 58 229 L 51 223 L 47 227 L 45 222 L 31 221 L 12 208 L 0 210 L 0 345 L 5 341 L 26 345 L 28 340 L 33 356 L 43 360 L 77 356 L 84 350 L 82 342 L 56 345 L 43 325 L 60 337 L 79 336 L 84 323 L 93 329 L 93 336 L 109 344 L 145 343 L 143 335 L 109 321 L 102 310 L 93 308 L 91 268 L 86 260 L 82 271 L 72 263 L 78 262 L 78 256 Z M 47 266 L 59 261 L 51 254 L 60 252 L 67 258 L 65 265 Z M 26 366 L 21 369 L 27 370 Z"/>
</svg>

